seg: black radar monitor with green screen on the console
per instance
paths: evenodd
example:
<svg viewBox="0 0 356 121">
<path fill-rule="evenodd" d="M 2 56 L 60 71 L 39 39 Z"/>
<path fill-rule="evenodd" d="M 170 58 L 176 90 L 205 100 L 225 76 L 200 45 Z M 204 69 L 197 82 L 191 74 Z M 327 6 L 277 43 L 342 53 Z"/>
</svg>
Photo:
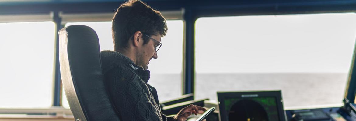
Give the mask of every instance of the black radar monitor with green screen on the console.
<svg viewBox="0 0 356 121">
<path fill-rule="evenodd" d="M 286 121 L 282 92 L 218 92 L 220 121 Z"/>
</svg>

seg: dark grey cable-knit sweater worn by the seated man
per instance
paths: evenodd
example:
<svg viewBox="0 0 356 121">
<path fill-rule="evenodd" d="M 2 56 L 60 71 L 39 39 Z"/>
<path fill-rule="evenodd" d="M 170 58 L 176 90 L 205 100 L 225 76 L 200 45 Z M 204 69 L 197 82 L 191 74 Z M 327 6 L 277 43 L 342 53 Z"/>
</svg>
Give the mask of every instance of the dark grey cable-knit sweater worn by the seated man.
<svg viewBox="0 0 356 121">
<path fill-rule="evenodd" d="M 150 71 L 116 51 L 101 51 L 104 81 L 122 121 L 167 121 L 157 91 L 147 84 Z M 172 117 L 168 117 L 171 120 Z"/>
</svg>

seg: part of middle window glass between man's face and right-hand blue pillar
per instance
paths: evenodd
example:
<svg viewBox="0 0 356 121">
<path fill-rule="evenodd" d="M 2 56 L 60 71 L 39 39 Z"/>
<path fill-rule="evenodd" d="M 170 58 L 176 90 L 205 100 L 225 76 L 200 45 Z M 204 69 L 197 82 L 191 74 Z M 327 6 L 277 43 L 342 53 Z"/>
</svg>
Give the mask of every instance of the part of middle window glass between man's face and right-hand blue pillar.
<svg viewBox="0 0 356 121">
<path fill-rule="evenodd" d="M 161 39 L 157 59 L 150 61 L 148 84 L 157 89 L 159 101 L 182 96 L 183 21 L 167 21 L 167 35 Z"/>
</svg>

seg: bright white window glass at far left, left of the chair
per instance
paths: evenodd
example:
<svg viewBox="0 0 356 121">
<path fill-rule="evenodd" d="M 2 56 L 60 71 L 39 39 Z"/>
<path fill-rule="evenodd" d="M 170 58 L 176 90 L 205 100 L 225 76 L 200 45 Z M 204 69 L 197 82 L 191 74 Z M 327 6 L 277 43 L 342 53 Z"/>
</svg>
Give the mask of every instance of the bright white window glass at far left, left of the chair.
<svg viewBox="0 0 356 121">
<path fill-rule="evenodd" d="M 0 23 L 0 108 L 53 103 L 55 24 Z"/>
</svg>

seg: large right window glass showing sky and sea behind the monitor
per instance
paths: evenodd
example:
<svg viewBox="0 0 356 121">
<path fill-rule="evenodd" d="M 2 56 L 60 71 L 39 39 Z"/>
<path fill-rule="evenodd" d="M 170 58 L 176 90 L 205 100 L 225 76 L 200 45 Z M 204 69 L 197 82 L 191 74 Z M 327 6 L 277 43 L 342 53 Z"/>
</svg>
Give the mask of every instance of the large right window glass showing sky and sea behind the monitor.
<svg viewBox="0 0 356 121">
<path fill-rule="evenodd" d="M 355 21 L 355 13 L 199 18 L 195 96 L 282 90 L 287 109 L 340 104 Z"/>
</svg>

